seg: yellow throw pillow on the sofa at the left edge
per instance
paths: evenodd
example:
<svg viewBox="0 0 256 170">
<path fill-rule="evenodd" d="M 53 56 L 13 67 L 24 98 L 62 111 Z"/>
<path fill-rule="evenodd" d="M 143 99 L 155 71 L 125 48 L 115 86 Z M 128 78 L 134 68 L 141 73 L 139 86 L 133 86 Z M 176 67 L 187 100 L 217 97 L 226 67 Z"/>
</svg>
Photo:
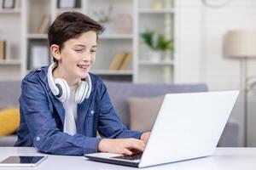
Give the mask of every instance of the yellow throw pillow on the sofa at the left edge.
<svg viewBox="0 0 256 170">
<path fill-rule="evenodd" d="M 0 136 L 15 133 L 20 125 L 20 111 L 6 108 L 0 111 Z"/>
</svg>

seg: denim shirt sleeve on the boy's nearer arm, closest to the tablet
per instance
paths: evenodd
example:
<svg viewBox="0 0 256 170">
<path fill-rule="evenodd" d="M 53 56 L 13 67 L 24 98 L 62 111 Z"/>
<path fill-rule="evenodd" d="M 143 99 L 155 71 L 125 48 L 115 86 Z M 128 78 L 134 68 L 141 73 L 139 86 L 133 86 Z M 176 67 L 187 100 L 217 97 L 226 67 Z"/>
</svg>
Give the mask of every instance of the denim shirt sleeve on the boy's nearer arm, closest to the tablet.
<svg viewBox="0 0 256 170">
<path fill-rule="evenodd" d="M 83 155 L 97 152 L 100 138 L 82 134 L 69 135 L 56 126 L 49 110 L 49 98 L 43 85 L 32 78 L 25 78 L 21 85 L 20 111 L 32 137 L 32 144 L 45 153 L 57 155 Z"/>
</svg>

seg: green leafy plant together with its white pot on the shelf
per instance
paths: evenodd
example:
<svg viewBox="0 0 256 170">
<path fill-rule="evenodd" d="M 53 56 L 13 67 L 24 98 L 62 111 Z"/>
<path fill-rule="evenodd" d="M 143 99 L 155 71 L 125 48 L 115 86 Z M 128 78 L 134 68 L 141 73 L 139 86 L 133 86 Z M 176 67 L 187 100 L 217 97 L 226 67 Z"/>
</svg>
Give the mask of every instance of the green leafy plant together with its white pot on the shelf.
<svg viewBox="0 0 256 170">
<path fill-rule="evenodd" d="M 167 50 L 173 51 L 173 40 L 166 39 L 166 37 L 162 34 L 157 34 L 154 31 L 144 31 L 140 33 L 140 37 L 145 43 L 150 52 L 150 57 L 153 61 L 159 61 L 163 54 L 166 53 Z"/>
</svg>

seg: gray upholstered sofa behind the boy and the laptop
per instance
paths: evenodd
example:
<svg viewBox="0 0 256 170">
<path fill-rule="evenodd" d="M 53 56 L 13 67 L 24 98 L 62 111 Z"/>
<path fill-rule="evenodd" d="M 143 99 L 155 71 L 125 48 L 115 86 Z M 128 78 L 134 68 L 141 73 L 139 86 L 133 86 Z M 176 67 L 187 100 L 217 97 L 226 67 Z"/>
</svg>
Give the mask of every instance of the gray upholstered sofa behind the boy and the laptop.
<svg viewBox="0 0 256 170">
<path fill-rule="evenodd" d="M 153 97 L 166 93 L 189 93 L 205 92 L 205 84 L 136 84 L 131 82 L 106 82 L 108 94 L 112 99 L 119 117 L 126 126 L 129 127 L 130 116 L 127 99 L 130 97 Z M 18 98 L 20 96 L 20 81 L 0 81 L 0 109 L 6 106 L 19 107 Z M 209 132 L 211 133 L 211 132 Z M 237 122 L 229 121 L 224 128 L 224 133 L 218 142 L 218 146 L 238 146 L 239 126 Z M 12 146 L 16 136 L 0 137 L 0 146 Z"/>
</svg>

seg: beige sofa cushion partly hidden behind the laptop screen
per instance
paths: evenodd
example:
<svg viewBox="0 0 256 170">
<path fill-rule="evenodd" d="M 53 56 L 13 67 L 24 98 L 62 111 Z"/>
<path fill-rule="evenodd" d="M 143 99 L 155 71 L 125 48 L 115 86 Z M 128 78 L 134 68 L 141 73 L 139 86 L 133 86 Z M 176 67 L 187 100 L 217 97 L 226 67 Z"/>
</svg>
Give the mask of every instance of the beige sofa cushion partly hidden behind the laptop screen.
<svg viewBox="0 0 256 170">
<path fill-rule="evenodd" d="M 131 130 L 151 131 L 163 99 L 163 96 L 128 99 Z"/>
</svg>

